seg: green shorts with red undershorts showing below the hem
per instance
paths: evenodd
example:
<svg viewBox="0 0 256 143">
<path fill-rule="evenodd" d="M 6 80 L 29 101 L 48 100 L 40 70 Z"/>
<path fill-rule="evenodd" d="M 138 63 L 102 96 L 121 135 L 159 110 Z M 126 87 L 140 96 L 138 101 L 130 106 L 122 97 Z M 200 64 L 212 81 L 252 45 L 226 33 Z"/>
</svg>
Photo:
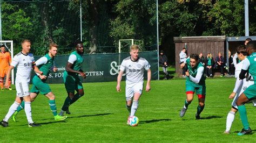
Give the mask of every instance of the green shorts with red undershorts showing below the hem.
<svg viewBox="0 0 256 143">
<path fill-rule="evenodd" d="M 205 96 L 206 87 L 205 84 L 196 84 L 186 81 L 186 93 L 193 94 L 196 91 L 197 95 Z"/>
</svg>

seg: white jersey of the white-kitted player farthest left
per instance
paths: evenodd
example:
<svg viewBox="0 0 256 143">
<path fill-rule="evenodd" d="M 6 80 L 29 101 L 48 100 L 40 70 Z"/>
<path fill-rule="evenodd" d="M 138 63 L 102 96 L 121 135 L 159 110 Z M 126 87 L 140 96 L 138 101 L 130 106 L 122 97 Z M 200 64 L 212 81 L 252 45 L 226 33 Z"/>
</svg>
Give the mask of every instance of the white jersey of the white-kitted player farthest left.
<svg viewBox="0 0 256 143">
<path fill-rule="evenodd" d="M 35 64 L 35 60 L 31 53 L 25 55 L 22 52 L 19 52 L 14 56 L 14 59 L 11 61 L 11 66 L 17 66 L 16 83 L 26 83 L 30 81 L 33 64 Z"/>
</svg>

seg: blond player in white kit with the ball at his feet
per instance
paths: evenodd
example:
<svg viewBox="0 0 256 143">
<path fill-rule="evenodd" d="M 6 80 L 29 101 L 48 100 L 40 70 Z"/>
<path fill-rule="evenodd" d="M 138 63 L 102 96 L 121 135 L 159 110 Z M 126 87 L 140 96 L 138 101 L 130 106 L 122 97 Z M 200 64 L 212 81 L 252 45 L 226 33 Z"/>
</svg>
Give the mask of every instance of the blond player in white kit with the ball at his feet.
<svg viewBox="0 0 256 143">
<path fill-rule="evenodd" d="M 147 85 L 146 92 L 150 91 L 151 69 L 150 64 L 144 58 L 139 58 L 139 46 L 132 45 L 130 47 L 130 55 L 125 58 L 120 65 L 119 74 L 117 77 L 117 92 L 121 90 L 120 82 L 123 73 L 126 73 L 126 108 L 129 111 L 129 117 L 135 115 L 139 106 L 139 98 L 143 91 L 144 69 L 147 70 Z M 133 99 L 133 101 L 132 101 Z"/>
</svg>

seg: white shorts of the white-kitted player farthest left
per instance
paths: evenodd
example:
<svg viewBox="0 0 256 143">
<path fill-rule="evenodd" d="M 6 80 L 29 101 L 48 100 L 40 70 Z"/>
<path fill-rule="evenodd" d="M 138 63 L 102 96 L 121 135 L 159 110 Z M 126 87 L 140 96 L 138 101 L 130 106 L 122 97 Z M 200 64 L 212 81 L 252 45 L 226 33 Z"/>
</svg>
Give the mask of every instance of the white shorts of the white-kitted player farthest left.
<svg viewBox="0 0 256 143">
<path fill-rule="evenodd" d="M 30 95 L 29 92 L 29 83 L 15 82 L 15 88 L 17 91 L 16 96 L 24 97 Z"/>
</svg>

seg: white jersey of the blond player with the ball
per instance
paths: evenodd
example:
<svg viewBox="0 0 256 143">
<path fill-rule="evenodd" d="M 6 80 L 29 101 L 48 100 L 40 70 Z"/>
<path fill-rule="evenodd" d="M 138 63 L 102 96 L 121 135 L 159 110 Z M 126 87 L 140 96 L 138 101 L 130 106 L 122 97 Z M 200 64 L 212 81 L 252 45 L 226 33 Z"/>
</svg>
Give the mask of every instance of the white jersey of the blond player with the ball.
<svg viewBox="0 0 256 143">
<path fill-rule="evenodd" d="M 125 58 L 120 66 L 120 70 L 126 73 L 126 85 L 143 82 L 144 69 L 150 69 L 149 62 L 144 58 L 132 61 L 131 56 Z"/>
</svg>

